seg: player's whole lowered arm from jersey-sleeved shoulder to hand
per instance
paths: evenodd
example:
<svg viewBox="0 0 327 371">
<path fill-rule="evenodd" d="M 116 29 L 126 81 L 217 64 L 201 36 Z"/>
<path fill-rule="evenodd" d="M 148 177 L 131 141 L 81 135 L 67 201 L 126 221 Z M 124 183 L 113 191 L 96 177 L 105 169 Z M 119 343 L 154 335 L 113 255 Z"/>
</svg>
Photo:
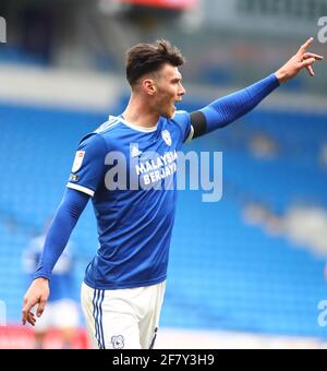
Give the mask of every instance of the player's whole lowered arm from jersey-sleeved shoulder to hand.
<svg viewBox="0 0 327 371">
<path fill-rule="evenodd" d="M 94 195 L 105 172 L 107 147 L 100 135 L 90 135 L 80 144 L 76 152 L 68 189 L 57 210 L 47 234 L 44 251 L 34 275 L 34 282 L 24 297 L 22 322 L 35 324 L 32 308 L 36 304 L 37 316 L 44 312 L 49 297 L 52 270 L 90 196 Z"/>
</svg>

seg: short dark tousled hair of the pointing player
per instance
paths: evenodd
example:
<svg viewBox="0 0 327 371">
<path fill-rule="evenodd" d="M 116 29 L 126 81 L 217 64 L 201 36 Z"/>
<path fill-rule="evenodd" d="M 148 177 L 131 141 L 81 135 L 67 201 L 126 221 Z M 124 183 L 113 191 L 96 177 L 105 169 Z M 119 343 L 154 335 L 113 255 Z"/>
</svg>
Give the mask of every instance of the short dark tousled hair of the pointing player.
<svg viewBox="0 0 327 371">
<path fill-rule="evenodd" d="M 131 86 L 134 86 L 140 77 L 146 73 L 159 71 L 169 63 L 180 67 L 185 63 L 181 50 L 165 39 L 155 44 L 137 44 L 126 51 L 126 77 Z"/>
</svg>

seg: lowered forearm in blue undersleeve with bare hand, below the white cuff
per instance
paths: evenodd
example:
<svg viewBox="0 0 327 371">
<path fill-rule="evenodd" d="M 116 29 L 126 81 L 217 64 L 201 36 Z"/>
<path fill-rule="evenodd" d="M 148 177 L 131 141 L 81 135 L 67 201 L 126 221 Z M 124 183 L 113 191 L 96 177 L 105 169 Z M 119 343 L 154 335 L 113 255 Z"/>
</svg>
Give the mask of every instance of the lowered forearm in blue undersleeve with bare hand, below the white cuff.
<svg viewBox="0 0 327 371">
<path fill-rule="evenodd" d="M 66 189 L 48 231 L 44 252 L 34 276 L 35 279 L 24 297 L 22 311 L 23 324 L 26 324 L 26 322 L 32 325 L 35 324 L 36 319 L 31 311 L 34 306 L 38 304 L 36 312 L 37 316 L 43 314 L 50 292 L 49 279 L 51 272 L 64 250 L 88 200 L 89 195 L 80 191 Z"/>
</svg>

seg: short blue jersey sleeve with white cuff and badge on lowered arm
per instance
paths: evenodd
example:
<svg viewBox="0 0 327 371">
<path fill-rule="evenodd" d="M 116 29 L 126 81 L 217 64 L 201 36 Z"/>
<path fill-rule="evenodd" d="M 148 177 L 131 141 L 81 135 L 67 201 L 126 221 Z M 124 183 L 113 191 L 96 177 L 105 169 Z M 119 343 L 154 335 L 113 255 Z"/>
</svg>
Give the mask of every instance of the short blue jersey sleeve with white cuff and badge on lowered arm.
<svg viewBox="0 0 327 371">
<path fill-rule="evenodd" d="M 107 152 L 106 142 L 99 134 L 82 140 L 66 187 L 94 196 L 104 180 Z"/>
</svg>

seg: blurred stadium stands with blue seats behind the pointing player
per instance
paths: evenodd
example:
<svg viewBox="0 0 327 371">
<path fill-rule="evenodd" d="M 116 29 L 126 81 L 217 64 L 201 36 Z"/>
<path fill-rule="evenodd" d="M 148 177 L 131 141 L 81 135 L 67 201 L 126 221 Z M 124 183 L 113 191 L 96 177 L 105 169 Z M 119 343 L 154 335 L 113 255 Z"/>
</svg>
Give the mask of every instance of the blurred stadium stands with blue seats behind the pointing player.
<svg viewBox="0 0 327 371">
<path fill-rule="evenodd" d="M 22 251 L 56 211 L 81 136 L 126 103 L 125 49 L 178 45 L 189 60 L 181 108 L 199 108 L 274 72 L 310 36 L 326 57 L 327 3 L 1 0 L 0 15 L 0 347 L 29 348 Z M 185 147 L 223 152 L 223 198 L 180 192 L 157 347 L 326 348 L 327 69 L 315 70 Z M 78 298 L 97 247 L 90 206 L 72 239 Z M 83 321 L 75 346 L 87 346 Z"/>
</svg>

